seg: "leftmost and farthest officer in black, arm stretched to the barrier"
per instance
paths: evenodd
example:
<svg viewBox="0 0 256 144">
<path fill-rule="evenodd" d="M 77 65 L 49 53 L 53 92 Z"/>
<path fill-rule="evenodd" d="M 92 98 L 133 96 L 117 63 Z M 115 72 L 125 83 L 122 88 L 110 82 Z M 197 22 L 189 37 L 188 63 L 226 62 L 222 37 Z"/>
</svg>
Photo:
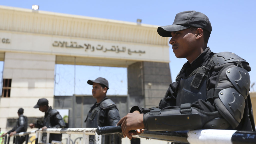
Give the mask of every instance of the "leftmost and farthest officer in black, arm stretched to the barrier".
<svg viewBox="0 0 256 144">
<path fill-rule="evenodd" d="M 8 131 L 7 133 L 10 136 L 13 136 L 16 133 L 19 132 L 26 132 L 27 128 L 28 128 L 28 119 L 26 116 L 23 115 L 24 109 L 23 108 L 19 108 L 18 110 L 18 121 L 16 123 L 16 126 L 13 127 L 12 130 Z M 4 133 L 1 137 L 5 136 L 7 133 Z M 16 137 L 18 139 L 18 144 L 22 144 L 25 141 L 25 137 L 24 136 L 20 136 L 20 137 Z"/>
</svg>

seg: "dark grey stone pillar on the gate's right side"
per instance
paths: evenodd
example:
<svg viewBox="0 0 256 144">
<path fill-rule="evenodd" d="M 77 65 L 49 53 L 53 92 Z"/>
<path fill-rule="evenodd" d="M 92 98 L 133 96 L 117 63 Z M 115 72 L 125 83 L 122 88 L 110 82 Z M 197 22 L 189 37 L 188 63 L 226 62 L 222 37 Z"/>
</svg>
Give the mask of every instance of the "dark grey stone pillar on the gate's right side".
<svg viewBox="0 0 256 144">
<path fill-rule="evenodd" d="M 137 62 L 127 68 L 129 108 L 157 107 L 172 82 L 168 63 Z"/>
</svg>

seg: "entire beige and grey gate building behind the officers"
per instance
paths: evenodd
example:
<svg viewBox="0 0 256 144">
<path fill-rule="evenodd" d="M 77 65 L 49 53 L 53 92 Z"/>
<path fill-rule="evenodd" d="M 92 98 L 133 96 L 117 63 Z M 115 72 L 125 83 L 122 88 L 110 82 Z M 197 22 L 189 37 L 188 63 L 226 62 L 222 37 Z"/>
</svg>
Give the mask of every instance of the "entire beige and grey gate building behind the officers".
<svg viewBox="0 0 256 144">
<path fill-rule="evenodd" d="M 131 106 L 158 106 L 170 84 L 168 38 L 157 26 L 0 6 L 0 60 L 4 61 L 0 127 L 8 129 L 17 110 L 33 122 L 47 98 L 69 109 L 69 126 L 83 127 L 91 95 L 54 96 L 56 64 L 127 67 L 128 94 L 109 96 L 121 116 Z"/>
</svg>

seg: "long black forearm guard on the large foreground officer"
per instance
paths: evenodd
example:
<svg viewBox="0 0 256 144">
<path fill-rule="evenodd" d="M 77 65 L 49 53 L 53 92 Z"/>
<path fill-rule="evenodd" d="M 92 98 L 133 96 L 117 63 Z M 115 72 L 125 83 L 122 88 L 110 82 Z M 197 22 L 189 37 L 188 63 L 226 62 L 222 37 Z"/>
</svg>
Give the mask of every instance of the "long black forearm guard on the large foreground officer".
<svg viewBox="0 0 256 144">
<path fill-rule="evenodd" d="M 145 128 L 150 131 L 228 128 L 230 126 L 228 122 L 220 117 L 217 111 L 206 115 L 191 107 L 186 109 L 155 109 L 144 114 L 143 122 Z"/>
</svg>

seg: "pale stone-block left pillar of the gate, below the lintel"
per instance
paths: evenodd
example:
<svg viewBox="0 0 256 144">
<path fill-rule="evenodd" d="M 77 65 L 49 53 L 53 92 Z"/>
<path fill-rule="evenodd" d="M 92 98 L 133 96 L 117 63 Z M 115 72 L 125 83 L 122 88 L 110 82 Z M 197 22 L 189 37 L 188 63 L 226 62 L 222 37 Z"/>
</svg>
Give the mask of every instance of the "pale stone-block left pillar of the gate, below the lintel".
<svg viewBox="0 0 256 144">
<path fill-rule="evenodd" d="M 53 105 L 54 55 L 5 53 L 4 79 L 12 79 L 9 98 L 0 100 L 0 127 L 6 128 L 7 118 L 18 117 L 20 107 L 27 117 L 42 117 L 44 113 L 34 109 L 39 98 L 47 98 Z"/>
</svg>

